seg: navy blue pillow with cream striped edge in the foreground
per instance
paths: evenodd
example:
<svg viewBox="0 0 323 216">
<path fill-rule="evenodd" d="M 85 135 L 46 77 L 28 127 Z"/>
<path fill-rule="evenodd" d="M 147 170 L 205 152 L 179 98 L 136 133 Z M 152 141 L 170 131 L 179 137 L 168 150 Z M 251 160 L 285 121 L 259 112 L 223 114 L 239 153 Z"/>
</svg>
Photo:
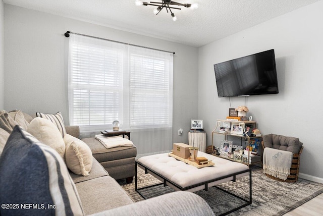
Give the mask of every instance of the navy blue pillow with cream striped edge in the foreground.
<svg viewBox="0 0 323 216">
<path fill-rule="evenodd" d="M 29 209 L 1 208 L 1 215 L 83 214 L 62 157 L 19 126 L 14 128 L 0 157 L 0 176 L 1 203 L 39 205 Z"/>
</svg>

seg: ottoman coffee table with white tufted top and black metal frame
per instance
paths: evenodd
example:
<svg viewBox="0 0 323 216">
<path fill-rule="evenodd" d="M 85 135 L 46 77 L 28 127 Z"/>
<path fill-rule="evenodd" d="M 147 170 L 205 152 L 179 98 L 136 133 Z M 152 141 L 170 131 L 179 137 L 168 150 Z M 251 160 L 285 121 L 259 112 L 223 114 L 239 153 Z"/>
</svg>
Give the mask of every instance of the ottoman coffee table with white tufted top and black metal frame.
<svg viewBox="0 0 323 216">
<path fill-rule="evenodd" d="M 249 174 L 249 200 L 239 197 L 220 187 L 217 188 L 245 201 L 245 204 L 225 212 L 222 215 L 231 213 L 252 203 L 251 169 L 249 169 L 247 165 L 216 157 L 201 151 L 198 151 L 197 156 L 206 157 L 208 160 L 212 160 L 215 165 L 198 169 L 169 156 L 168 153 L 140 157 L 136 161 L 135 166 L 135 190 L 146 199 L 140 190 L 156 186 L 150 185 L 138 188 L 137 167 L 142 168 L 146 174 L 149 173 L 159 179 L 163 182 L 161 184 L 164 184 L 164 186 L 169 186 L 176 191 L 182 190 L 190 192 L 199 190 L 207 191 L 209 187 L 217 187 L 216 185 L 227 181 L 235 182 L 237 178 Z"/>
</svg>

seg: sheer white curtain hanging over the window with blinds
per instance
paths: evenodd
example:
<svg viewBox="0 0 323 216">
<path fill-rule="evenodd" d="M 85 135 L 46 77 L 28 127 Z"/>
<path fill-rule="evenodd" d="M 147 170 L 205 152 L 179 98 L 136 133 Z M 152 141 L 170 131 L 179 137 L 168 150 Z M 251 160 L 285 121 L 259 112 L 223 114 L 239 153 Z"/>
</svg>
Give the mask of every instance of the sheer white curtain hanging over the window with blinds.
<svg viewBox="0 0 323 216">
<path fill-rule="evenodd" d="M 173 54 L 70 34 L 70 124 L 81 137 L 131 132 L 138 154 L 172 148 Z"/>
</svg>

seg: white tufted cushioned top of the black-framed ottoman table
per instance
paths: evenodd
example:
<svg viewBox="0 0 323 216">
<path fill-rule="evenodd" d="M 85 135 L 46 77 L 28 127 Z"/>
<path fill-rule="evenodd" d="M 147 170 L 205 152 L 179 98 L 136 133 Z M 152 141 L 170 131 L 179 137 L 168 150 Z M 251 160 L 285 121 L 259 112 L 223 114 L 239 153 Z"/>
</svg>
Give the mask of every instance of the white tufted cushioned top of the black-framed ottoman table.
<svg viewBox="0 0 323 216">
<path fill-rule="evenodd" d="M 138 162 L 164 178 L 170 180 L 171 182 L 181 186 L 182 188 L 190 187 L 216 178 L 225 177 L 227 175 L 232 175 L 240 171 L 249 170 L 247 165 L 213 156 L 201 151 L 198 151 L 197 156 L 206 157 L 208 160 L 212 160 L 215 165 L 198 169 L 191 165 L 185 164 L 183 161 L 177 160 L 174 157 L 168 156 L 168 153 L 143 156 L 138 159 Z M 248 175 L 248 172 L 237 175 L 237 178 L 245 175 Z M 160 178 L 158 179 L 163 180 Z M 233 180 L 232 176 L 213 181 L 208 184 L 208 187 L 230 180 Z M 204 189 L 204 187 L 204 185 L 201 185 L 188 191 L 194 192 Z M 176 188 L 174 189 L 176 190 Z"/>
</svg>

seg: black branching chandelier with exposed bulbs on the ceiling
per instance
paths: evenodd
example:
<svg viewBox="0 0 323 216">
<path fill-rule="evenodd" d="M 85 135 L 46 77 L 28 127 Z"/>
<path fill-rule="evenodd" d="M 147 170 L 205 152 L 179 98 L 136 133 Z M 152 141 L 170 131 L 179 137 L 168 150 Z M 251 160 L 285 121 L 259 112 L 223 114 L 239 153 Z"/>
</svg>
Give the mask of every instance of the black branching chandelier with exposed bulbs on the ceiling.
<svg viewBox="0 0 323 216">
<path fill-rule="evenodd" d="M 182 3 L 177 3 L 177 2 L 174 2 L 174 1 L 171 1 L 171 0 L 161 0 L 161 2 L 150 2 L 150 3 L 136 0 L 135 5 L 136 6 L 142 6 L 142 5 L 143 6 L 147 6 L 147 5 L 157 6 L 157 8 L 153 10 L 153 13 L 155 15 L 159 14 L 159 12 L 161 10 L 163 10 L 163 8 L 165 8 L 167 13 L 169 13 L 169 12 L 171 13 L 172 19 L 174 21 L 177 20 L 177 17 L 172 12 L 172 9 L 182 10 L 181 8 L 179 8 L 180 6 L 183 6 L 185 8 L 190 8 L 190 9 L 198 8 L 198 4 L 182 4 Z"/>
</svg>

